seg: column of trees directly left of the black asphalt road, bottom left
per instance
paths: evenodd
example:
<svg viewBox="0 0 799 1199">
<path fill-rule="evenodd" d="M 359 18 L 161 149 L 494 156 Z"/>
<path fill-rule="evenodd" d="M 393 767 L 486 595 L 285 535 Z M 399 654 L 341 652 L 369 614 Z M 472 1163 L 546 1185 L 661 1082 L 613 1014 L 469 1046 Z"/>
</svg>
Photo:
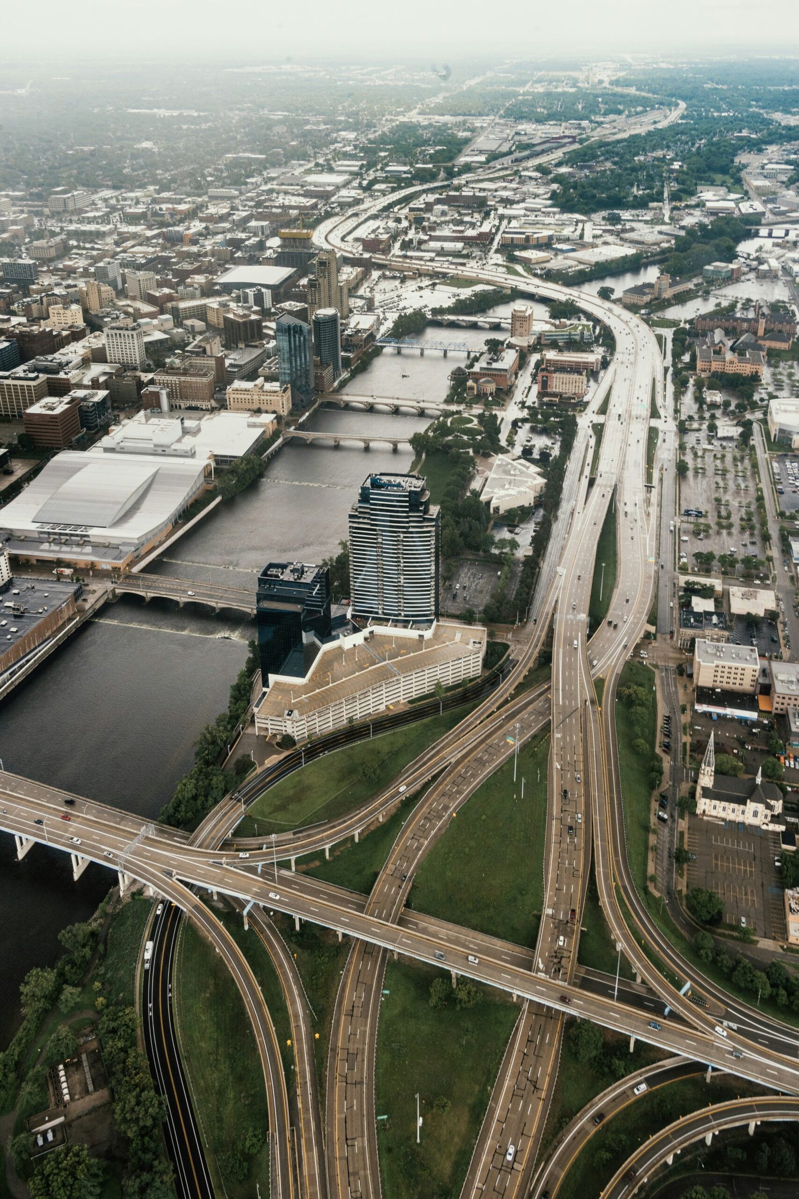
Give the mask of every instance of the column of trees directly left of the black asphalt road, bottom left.
<svg viewBox="0 0 799 1199">
<path fill-rule="evenodd" d="M 168 1199 L 172 1194 L 171 1167 L 161 1150 L 167 1105 L 156 1095 L 147 1059 L 138 1046 L 135 1011 L 107 1007 L 99 1036 L 114 1097 L 114 1125 L 128 1150 L 125 1199 Z"/>
</svg>

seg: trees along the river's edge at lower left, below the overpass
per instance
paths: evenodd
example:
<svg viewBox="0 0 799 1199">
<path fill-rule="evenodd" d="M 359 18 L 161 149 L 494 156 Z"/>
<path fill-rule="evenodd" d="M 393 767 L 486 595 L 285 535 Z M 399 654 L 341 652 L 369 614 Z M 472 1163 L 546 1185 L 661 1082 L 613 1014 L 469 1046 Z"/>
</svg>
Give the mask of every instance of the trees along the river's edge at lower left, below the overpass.
<svg viewBox="0 0 799 1199">
<path fill-rule="evenodd" d="M 23 1022 L 13 1036 L 8 1048 L 0 1054 L 0 1105 L 6 1109 L 13 1105 L 19 1081 L 19 1072 L 28 1050 L 36 1040 L 42 1020 L 59 1004 L 60 1011 L 68 1014 L 75 1011 L 80 1002 L 77 983 L 80 982 L 97 946 L 101 912 L 91 921 L 69 924 L 59 933 L 63 953 L 55 966 L 34 966 L 29 970 L 19 987 L 19 1005 Z M 55 1065 L 69 1055 L 73 1043 L 72 1034 L 63 1026 L 56 1030 L 47 1049 L 48 1064 Z M 62 1050 L 66 1050 L 62 1053 Z M 53 1055 L 56 1055 L 50 1062 Z M 34 1067 L 23 1080 L 23 1090 L 31 1098 L 43 1091 L 44 1072 Z M 30 1105 L 30 1110 L 36 1110 Z"/>
</svg>

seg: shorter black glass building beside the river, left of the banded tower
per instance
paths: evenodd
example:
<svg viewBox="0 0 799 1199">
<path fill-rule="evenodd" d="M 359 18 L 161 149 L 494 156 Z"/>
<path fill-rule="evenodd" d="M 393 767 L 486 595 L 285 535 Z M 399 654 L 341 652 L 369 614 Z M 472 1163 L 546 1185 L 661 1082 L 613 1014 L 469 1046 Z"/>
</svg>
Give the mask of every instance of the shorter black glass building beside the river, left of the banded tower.
<svg viewBox="0 0 799 1199">
<path fill-rule="evenodd" d="M 270 562 L 258 579 L 258 647 L 265 687 L 272 675 L 304 679 L 331 635 L 331 578 L 326 566 Z"/>
</svg>

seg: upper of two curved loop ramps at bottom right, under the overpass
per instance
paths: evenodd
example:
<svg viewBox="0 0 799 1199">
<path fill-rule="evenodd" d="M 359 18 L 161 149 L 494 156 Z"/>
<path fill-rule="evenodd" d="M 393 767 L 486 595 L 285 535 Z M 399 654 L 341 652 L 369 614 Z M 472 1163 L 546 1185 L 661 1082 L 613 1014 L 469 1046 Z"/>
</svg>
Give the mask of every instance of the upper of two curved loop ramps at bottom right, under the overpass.
<svg viewBox="0 0 799 1199">
<path fill-rule="evenodd" d="M 666 1058 L 664 1061 L 644 1066 L 642 1070 L 628 1074 L 595 1095 L 569 1121 L 547 1156 L 538 1164 L 532 1180 L 531 1195 L 540 1195 L 547 1191 L 550 1199 L 555 1199 L 558 1187 L 570 1170 L 577 1153 L 599 1132 L 609 1116 L 615 1116 L 635 1101 L 632 1091 L 640 1083 L 646 1083 L 647 1090 L 654 1091 L 680 1078 L 694 1078 L 704 1073 L 706 1071 L 696 1062 L 685 1058 Z"/>
</svg>

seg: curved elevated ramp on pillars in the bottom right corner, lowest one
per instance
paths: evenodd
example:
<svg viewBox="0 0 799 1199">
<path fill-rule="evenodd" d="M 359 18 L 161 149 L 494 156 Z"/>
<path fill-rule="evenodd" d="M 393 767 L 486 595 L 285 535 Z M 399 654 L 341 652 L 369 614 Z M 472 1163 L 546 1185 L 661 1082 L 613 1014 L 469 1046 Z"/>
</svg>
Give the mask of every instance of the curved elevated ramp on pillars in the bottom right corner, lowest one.
<svg viewBox="0 0 799 1199">
<path fill-rule="evenodd" d="M 674 1155 L 702 1138 L 709 1145 L 713 1137 L 727 1128 L 750 1125 L 753 1132 L 755 1123 L 763 1121 L 795 1123 L 797 1120 L 799 1098 L 776 1095 L 757 1099 L 730 1099 L 700 1108 L 654 1133 L 631 1153 L 603 1191 L 601 1199 L 629 1199 L 655 1170 L 665 1163 L 671 1165 Z"/>
</svg>

